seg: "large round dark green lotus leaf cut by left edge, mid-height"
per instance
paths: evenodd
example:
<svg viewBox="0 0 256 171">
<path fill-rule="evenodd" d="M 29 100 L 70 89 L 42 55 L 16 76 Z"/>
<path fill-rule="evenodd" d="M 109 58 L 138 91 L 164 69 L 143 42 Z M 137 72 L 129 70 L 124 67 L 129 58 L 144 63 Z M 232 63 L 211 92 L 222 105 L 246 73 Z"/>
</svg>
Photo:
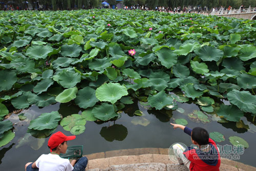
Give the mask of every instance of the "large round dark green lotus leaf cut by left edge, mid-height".
<svg viewBox="0 0 256 171">
<path fill-rule="evenodd" d="M 16 73 L 11 70 L 0 70 L 0 92 L 10 90 L 17 81 Z"/>
</svg>

